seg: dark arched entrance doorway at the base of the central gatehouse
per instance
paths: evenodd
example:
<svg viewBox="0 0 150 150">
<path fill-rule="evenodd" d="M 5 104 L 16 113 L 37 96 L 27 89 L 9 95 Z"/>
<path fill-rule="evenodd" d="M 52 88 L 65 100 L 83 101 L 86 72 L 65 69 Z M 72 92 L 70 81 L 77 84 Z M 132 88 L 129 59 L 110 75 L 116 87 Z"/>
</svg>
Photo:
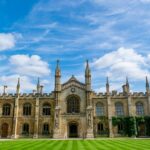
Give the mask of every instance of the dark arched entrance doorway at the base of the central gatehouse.
<svg viewBox="0 0 150 150">
<path fill-rule="evenodd" d="M 68 131 L 69 131 L 70 138 L 77 138 L 78 137 L 78 124 L 75 122 L 69 123 Z"/>
</svg>

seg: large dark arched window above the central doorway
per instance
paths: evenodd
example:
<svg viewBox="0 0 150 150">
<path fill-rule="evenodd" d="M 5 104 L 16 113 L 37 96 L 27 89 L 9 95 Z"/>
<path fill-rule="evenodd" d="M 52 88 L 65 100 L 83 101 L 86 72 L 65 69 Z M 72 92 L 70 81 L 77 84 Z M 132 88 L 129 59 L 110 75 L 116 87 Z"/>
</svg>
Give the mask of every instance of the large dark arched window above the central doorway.
<svg viewBox="0 0 150 150">
<path fill-rule="evenodd" d="M 71 96 L 67 99 L 67 112 L 68 113 L 80 112 L 80 102 L 77 97 Z"/>
</svg>

